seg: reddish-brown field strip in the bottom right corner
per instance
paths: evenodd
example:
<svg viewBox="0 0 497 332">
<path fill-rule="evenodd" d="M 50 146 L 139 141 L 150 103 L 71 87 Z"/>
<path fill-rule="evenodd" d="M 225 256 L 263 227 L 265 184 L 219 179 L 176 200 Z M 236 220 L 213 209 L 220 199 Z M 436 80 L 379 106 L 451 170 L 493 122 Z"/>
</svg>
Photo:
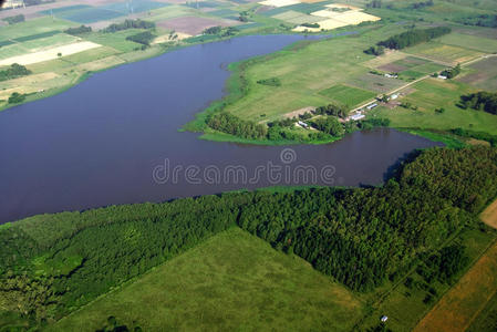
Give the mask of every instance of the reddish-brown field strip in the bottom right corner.
<svg viewBox="0 0 497 332">
<path fill-rule="evenodd" d="M 453 287 L 414 332 L 464 332 L 497 292 L 497 243 Z"/>
</svg>

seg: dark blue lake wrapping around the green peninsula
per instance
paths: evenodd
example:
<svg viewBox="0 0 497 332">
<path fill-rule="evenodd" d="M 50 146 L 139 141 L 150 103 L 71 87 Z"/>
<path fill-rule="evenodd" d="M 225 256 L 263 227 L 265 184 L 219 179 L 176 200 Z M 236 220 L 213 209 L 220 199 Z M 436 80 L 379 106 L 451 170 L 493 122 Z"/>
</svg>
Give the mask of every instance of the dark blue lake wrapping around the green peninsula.
<svg viewBox="0 0 497 332">
<path fill-rule="evenodd" d="M 434 145 L 380 129 L 283 151 L 177 131 L 222 97 L 228 63 L 301 39 L 259 35 L 195 45 L 1 112 L 0 222 L 269 185 L 379 184 L 398 158 Z"/>
</svg>

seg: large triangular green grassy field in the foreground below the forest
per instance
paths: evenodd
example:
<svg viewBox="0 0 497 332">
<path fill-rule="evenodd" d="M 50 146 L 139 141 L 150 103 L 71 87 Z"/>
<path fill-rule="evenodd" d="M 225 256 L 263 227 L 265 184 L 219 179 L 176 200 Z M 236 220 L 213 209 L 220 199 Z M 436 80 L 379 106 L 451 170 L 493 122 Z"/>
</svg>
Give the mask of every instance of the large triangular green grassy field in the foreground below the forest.
<svg viewBox="0 0 497 332">
<path fill-rule="evenodd" d="M 144 331 L 344 331 L 362 311 L 303 260 L 234 228 L 48 331 L 95 331 L 110 315 Z"/>
</svg>

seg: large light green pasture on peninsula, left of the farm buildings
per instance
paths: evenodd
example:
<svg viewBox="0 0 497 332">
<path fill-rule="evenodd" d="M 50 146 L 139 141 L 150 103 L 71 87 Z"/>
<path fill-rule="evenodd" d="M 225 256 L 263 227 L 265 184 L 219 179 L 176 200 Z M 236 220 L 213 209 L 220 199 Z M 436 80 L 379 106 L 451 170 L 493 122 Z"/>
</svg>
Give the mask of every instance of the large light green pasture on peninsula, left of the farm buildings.
<svg viewBox="0 0 497 332">
<path fill-rule="evenodd" d="M 386 33 L 391 31 L 379 29 L 354 38 L 332 38 L 262 58 L 246 71 L 249 93 L 228 105 L 227 111 L 257 122 L 266 114 L 265 120 L 270 121 L 303 107 L 329 104 L 330 98 L 320 92 L 336 84 L 371 92 L 398 87 L 405 82 L 367 74 L 369 69 L 361 65 L 373 58 L 362 52 L 365 45 Z M 281 86 L 257 84 L 268 79 L 268 73 L 278 77 Z"/>
</svg>

